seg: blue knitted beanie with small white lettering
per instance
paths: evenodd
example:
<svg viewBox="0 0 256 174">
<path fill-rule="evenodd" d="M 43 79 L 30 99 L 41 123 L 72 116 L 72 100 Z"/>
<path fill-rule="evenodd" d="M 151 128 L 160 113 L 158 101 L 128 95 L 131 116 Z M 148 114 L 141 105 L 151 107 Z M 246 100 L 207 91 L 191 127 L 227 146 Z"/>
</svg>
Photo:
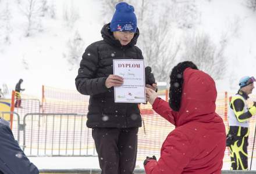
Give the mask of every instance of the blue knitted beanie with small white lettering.
<svg viewBox="0 0 256 174">
<path fill-rule="evenodd" d="M 120 2 L 116 5 L 116 11 L 112 17 L 110 30 L 136 32 L 137 18 L 133 6 L 126 2 Z"/>
</svg>

